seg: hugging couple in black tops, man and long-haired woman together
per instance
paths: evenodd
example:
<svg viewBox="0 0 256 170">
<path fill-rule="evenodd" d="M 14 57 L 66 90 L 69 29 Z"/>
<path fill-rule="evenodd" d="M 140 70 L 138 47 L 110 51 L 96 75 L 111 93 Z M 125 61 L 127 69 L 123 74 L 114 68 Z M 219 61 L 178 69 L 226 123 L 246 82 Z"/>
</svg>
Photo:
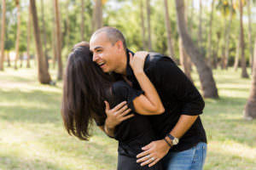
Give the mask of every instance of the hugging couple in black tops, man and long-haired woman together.
<svg viewBox="0 0 256 170">
<path fill-rule="evenodd" d="M 207 137 L 201 94 L 173 60 L 131 52 L 102 27 L 67 59 L 61 115 L 67 132 L 90 137 L 94 120 L 119 141 L 118 170 L 201 170 Z"/>
</svg>

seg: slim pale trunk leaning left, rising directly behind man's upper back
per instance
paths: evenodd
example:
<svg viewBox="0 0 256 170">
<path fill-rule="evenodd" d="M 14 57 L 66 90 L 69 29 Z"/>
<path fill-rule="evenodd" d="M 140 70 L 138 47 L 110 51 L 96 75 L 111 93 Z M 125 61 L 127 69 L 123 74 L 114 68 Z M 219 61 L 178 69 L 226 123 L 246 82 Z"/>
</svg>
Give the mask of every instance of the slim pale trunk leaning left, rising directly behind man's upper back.
<svg viewBox="0 0 256 170">
<path fill-rule="evenodd" d="M 166 32 L 167 32 L 167 44 L 168 44 L 168 50 L 170 57 L 177 63 L 177 60 L 175 59 L 173 45 L 172 45 L 172 30 L 171 30 L 171 21 L 169 16 L 169 8 L 168 8 L 168 2 L 167 0 L 164 0 L 164 6 L 165 6 L 165 19 L 166 19 Z"/>
</svg>

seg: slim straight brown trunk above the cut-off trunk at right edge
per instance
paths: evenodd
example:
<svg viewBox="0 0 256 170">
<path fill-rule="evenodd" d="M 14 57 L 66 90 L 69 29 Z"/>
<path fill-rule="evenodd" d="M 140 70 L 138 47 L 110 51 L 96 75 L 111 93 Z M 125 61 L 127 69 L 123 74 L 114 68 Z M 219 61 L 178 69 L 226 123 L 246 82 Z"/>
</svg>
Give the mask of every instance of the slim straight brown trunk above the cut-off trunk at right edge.
<svg viewBox="0 0 256 170">
<path fill-rule="evenodd" d="M 241 77 L 247 78 L 247 64 L 246 64 L 246 59 L 244 56 L 244 35 L 243 35 L 243 23 L 242 23 L 242 3 L 241 0 L 239 1 L 239 9 L 240 9 L 240 47 L 241 47 Z"/>
</svg>

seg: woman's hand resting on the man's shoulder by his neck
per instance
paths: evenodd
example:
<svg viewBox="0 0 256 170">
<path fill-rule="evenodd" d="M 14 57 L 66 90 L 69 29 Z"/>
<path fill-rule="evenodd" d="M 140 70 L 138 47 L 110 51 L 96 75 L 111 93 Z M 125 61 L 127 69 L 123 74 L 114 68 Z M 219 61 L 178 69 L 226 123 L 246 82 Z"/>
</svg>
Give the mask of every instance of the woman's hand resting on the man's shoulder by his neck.
<svg viewBox="0 0 256 170">
<path fill-rule="evenodd" d="M 130 65 L 133 71 L 143 72 L 147 51 L 138 51 L 134 56 L 130 53 Z"/>
</svg>

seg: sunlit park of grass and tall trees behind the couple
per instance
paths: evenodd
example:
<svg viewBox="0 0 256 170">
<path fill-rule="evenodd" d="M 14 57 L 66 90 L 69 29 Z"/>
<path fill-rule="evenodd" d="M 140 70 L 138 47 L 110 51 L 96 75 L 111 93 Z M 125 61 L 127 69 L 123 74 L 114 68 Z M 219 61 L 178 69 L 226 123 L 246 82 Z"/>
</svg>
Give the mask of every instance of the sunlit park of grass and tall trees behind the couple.
<svg viewBox="0 0 256 170">
<path fill-rule="evenodd" d="M 0 9 L 1 170 L 115 169 L 115 140 L 92 125 L 81 141 L 61 120 L 67 55 L 102 26 L 133 51 L 172 57 L 201 91 L 204 169 L 256 169 L 256 1 L 1 0 Z"/>
</svg>

